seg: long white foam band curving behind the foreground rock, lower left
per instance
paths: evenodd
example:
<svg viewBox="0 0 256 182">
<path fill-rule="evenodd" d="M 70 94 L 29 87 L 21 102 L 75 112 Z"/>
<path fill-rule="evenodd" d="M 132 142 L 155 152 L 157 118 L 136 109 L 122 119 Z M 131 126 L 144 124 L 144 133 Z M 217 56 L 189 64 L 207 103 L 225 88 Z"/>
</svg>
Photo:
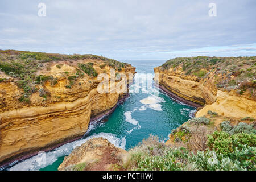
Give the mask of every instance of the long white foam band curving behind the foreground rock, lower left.
<svg viewBox="0 0 256 182">
<path fill-rule="evenodd" d="M 110 143 L 114 144 L 114 146 L 125 150 L 125 145 L 126 145 L 125 137 L 120 139 L 115 134 L 102 132 L 99 134 L 93 134 L 85 139 L 76 140 L 74 142 L 64 144 L 63 146 L 60 146 L 59 148 L 56 148 L 53 151 L 47 152 L 46 158 L 45 158 L 46 159 L 45 163 L 39 163 L 38 161 L 40 159 L 40 156 L 36 155 L 36 156 L 33 156 L 32 158 L 23 160 L 22 162 L 11 167 L 9 170 L 10 171 L 36 171 L 36 170 L 39 170 L 40 168 L 44 168 L 46 166 L 51 165 L 60 156 L 69 155 L 74 148 L 76 148 L 77 146 L 81 146 L 87 140 L 89 140 L 91 138 L 98 138 L 98 137 L 105 138 L 105 139 L 109 140 Z"/>
</svg>

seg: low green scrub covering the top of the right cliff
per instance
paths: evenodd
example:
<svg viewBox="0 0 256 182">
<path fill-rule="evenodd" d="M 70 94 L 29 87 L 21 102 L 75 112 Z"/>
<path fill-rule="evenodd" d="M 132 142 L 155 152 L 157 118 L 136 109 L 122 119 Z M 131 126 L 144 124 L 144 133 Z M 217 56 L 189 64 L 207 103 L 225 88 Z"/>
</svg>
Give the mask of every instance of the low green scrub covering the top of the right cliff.
<svg viewBox="0 0 256 182">
<path fill-rule="evenodd" d="M 217 88 L 238 89 L 243 94 L 249 89 L 255 96 L 256 56 L 252 57 L 179 57 L 166 61 L 162 69 L 181 69 L 183 75 L 192 75 L 204 80 L 213 73 Z"/>
</svg>

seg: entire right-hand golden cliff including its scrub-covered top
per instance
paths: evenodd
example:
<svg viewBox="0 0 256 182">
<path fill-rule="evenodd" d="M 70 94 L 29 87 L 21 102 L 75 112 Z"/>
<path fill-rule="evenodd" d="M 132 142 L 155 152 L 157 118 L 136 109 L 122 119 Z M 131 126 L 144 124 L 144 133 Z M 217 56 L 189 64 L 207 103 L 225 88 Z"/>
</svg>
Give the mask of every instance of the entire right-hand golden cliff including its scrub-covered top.
<svg viewBox="0 0 256 182">
<path fill-rule="evenodd" d="M 196 117 L 212 110 L 226 117 L 255 118 L 255 62 L 255 57 L 173 59 L 155 68 L 155 81 L 176 96 L 204 106 Z"/>
</svg>

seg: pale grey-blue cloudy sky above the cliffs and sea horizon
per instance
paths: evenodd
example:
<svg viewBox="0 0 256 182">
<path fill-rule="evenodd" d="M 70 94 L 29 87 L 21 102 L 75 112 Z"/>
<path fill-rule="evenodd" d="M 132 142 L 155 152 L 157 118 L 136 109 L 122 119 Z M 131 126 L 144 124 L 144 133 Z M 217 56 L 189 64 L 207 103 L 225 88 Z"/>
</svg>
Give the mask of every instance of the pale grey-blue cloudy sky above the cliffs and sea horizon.
<svg viewBox="0 0 256 182">
<path fill-rule="evenodd" d="M 255 0 L 1 0 L 0 49 L 116 60 L 256 56 L 255 22 Z"/>
</svg>

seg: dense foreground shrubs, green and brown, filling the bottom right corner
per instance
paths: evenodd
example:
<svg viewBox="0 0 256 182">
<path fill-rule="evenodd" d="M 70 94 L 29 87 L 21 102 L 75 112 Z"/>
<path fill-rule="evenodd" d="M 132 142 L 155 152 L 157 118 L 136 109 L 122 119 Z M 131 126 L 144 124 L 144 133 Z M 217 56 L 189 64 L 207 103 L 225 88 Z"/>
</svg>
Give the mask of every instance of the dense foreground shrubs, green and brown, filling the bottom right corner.
<svg viewBox="0 0 256 182">
<path fill-rule="evenodd" d="M 144 139 L 129 151 L 123 163 L 129 170 L 252 170 L 255 171 L 255 125 L 240 122 L 231 126 L 214 119 L 193 118 L 172 130 L 171 145 L 156 136 Z M 178 138 L 178 139 L 177 139 Z"/>
</svg>

